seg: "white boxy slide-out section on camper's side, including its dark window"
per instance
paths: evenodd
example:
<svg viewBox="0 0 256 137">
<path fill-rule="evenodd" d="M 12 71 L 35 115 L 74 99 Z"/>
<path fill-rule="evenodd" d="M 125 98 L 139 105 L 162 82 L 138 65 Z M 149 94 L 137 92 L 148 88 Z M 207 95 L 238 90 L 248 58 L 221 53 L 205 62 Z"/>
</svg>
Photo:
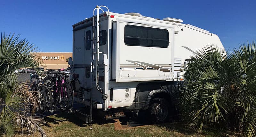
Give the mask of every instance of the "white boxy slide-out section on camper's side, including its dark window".
<svg viewBox="0 0 256 137">
<path fill-rule="evenodd" d="M 116 82 L 173 79 L 174 26 L 117 18 Z"/>
</svg>

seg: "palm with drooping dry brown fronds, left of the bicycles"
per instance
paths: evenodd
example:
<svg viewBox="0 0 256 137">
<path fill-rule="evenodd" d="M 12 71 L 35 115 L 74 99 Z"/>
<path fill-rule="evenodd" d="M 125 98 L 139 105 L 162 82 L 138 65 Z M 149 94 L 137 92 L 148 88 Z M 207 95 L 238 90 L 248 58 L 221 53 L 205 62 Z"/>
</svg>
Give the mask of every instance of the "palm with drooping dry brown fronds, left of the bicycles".
<svg viewBox="0 0 256 137">
<path fill-rule="evenodd" d="M 40 67 L 36 48 L 27 40 L 19 40 L 14 34 L 1 34 L 0 44 L 0 134 L 13 135 L 14 131 L 25 128 L 28 133 L 40 128 L 41 118 L 29 114 L 37 107 L 36 96 L 28 92 L 29 83 L 18 83 L 15 70 L 23 67 Z"/>
</svg>

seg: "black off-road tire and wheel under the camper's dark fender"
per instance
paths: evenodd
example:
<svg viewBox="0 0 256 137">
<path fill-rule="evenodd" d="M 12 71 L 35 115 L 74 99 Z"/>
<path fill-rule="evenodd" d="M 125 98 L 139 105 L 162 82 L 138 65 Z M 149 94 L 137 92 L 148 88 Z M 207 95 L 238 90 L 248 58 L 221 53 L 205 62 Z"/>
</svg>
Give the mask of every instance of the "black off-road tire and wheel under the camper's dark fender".
<svg viewBox="0 0 256 137">
<path fill-rule="evenodd" d="M 149 108 L 149 119 L 154 123 L 162 123 L 168 118 L 169 102 L 164 98 L 154 98 L 151 100 Z"/>
</svg>

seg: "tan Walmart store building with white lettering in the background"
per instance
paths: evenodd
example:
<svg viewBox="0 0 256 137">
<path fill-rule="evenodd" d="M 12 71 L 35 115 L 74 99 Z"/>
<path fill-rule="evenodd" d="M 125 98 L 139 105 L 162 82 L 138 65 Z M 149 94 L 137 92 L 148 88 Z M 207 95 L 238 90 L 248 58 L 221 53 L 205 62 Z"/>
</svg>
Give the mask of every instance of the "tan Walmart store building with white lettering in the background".
<svg viewBox="0 0 256 137">
<path fill-rule="evenodd" d="M 72 52 L 37 52 L 36 56 L 43 62 L 44 70 L 68 68 L 67 58 L 72 57 Z"/>
</svg>

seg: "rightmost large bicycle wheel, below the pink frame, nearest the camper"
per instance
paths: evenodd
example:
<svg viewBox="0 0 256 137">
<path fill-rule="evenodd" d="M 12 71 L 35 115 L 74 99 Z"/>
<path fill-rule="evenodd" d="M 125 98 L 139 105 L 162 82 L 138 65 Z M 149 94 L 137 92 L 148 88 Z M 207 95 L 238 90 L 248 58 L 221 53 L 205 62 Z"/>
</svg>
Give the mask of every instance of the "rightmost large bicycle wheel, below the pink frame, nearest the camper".
<svg viewBox="0 0 256 137">
<path fill-rule="evenodd" d="M 60 109 L 66 111 L 73 105 L 74 94 L 72 88 L 68 83 L 64 83 L 61 85 L 59 93 Z"/>
</svg>

